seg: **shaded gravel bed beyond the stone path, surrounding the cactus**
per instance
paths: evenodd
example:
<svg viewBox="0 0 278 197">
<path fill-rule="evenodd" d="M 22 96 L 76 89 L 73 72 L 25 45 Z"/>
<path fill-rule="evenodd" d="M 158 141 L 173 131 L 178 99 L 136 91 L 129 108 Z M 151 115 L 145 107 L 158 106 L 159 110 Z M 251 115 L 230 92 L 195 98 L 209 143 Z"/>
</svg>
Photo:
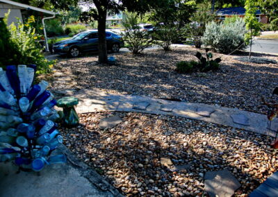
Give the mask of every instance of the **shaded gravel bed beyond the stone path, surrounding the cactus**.
<svg viewBox="0 0 278 197">
<path fill-rule="evenodd" d="M 177 74 L 176 63 L 181 60 L 197 60 L 194 57 L 196 51 L 187 46 L 167 53 L 159 50 L 149 50 L 142 55 L 115 53 L 113 55 L 117 64 L 114 66 L 97 64 L 97 55 L 93 55 L 60 60 L 56 69 L 73 74 L 77 83 L 74 87 L 79 89 L 181 99 L 251 112 L 266 112 L 261 106 L 261 96 L 270 96 L 278 85 L 276 64 L 242 62 L 235 60 L 240 55 L 213 53 L 214 58 L 222 58 L 220 71 Z M 254 55 L 278 60 L 275 55 Z"/>
</svg>

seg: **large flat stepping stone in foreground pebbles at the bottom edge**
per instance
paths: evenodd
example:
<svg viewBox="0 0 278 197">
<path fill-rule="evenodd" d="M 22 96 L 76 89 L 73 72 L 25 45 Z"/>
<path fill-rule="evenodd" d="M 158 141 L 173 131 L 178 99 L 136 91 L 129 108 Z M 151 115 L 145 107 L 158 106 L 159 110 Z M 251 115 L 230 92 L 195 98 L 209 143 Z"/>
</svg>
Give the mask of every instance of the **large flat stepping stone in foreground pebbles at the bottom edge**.
<svg viewBox="0 0 278 197">
<path fill-rule="evenodd" d="M 240 187 L 240 183 L 228 170 L 209 171 L 204 176 L 204 190 L 209 196 L 229 197 Z"/>
</svg>

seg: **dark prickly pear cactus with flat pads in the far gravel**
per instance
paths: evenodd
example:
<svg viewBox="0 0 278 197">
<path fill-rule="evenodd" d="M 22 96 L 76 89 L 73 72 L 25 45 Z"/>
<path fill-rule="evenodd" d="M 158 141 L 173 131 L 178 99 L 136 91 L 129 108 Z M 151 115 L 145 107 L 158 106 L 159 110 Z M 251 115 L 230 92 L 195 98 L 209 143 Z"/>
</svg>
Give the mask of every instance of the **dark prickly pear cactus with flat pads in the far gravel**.
<svg viewBox="0 0 278 197">
<path fill-rule="evenodd" d="M 216 71 L 220 67 L 219 63 L 221 62 L 221 59 L 216 58 L 213 60 L 213 54 L 208 53 L 208 49 L 206 49 L 206 58 L 204 58 L 200 52 L 197 52 L 195 57 L 199 60 L 197 67 L 201 72 Z"/>
</svg>

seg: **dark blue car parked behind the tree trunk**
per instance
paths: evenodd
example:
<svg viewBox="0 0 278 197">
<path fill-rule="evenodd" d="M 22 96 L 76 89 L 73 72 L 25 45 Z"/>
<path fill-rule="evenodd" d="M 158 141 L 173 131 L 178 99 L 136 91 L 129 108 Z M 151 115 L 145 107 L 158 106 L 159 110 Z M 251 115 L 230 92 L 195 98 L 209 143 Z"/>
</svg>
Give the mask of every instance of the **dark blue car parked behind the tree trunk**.
<svg viewBox="0 0 278 197">
<path fill-rule="evenodd" d="M 73 58 L 82 52 L 97 51 L 98 48 L 97 31 L 84 31 L 74 35 L 69 40 L 56 42 L 53 46 L 53 52 L 59 55 L 70 55 Z M 122 36 L 106 31 L 107 50 L 113 53 L 118 52 L 120 47 L 124 46 Z"/>
</svg>

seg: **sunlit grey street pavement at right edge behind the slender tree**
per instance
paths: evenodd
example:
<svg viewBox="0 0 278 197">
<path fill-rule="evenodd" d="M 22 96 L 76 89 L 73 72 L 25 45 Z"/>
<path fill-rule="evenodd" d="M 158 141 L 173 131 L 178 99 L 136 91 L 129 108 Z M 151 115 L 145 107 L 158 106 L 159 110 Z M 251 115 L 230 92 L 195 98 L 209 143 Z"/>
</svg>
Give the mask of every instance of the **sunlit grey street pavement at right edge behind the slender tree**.
<svg viewBox="0 0 278 197">
<path fill-rule="evenodd" d="M 253 52 L 276 53 L 278 55 L 278 40 L 256 39 L 253 43 Z M 250 47 L 248 47 L 246 51 L 250 51 Z"/>
</svg>

